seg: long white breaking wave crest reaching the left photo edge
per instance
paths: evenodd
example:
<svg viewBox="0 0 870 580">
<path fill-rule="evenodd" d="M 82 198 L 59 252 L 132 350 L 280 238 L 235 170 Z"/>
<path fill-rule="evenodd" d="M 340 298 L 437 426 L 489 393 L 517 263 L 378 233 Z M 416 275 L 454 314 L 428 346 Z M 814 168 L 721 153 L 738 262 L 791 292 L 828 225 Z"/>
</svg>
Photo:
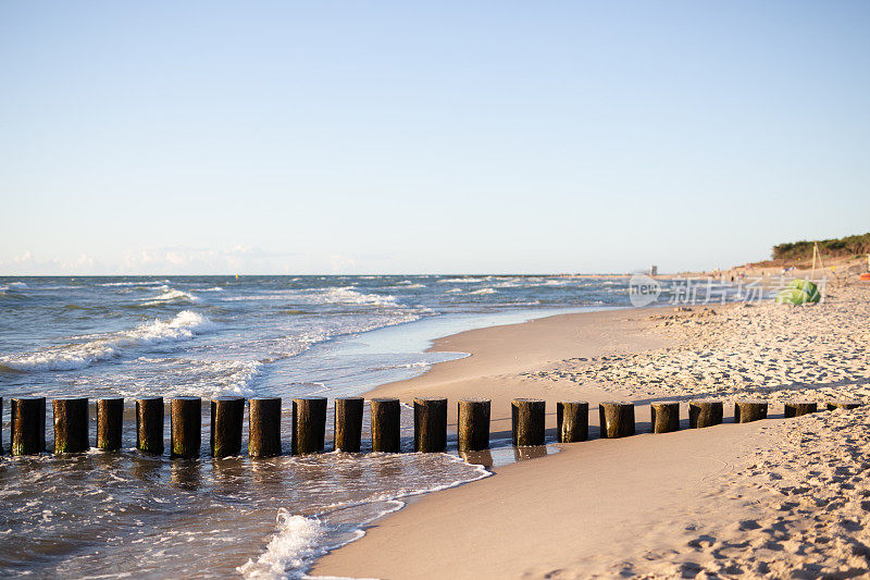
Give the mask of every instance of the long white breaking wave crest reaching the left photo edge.
<svg viewBox="0 0 870 580">
<path fill-rule="evenodd" d="M 184 310 L 167 321 L 153 320 L 128 331 L 90 335 L 84 343 L 52 346 L 37 353 L 0 357 L 0 370 L 45 371 L 83 369 L 100 360 L 121 356 L 137 346 L 189 341 L 195 335 L 213 330 L 208 318 Z"/>
</svg>

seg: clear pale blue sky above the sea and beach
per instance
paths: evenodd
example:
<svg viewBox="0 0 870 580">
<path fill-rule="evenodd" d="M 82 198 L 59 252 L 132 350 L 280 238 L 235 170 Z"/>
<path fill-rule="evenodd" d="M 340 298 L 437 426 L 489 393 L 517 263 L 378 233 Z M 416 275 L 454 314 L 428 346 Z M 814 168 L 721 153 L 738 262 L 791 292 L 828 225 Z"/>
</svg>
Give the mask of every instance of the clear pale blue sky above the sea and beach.
<svg viewBox="0 0 870 580">
<path fill-rule="evenodd" d="M 0 275 L 674 272 L 870 231 L 870 2 L 0 2 Z"/>
</svg>

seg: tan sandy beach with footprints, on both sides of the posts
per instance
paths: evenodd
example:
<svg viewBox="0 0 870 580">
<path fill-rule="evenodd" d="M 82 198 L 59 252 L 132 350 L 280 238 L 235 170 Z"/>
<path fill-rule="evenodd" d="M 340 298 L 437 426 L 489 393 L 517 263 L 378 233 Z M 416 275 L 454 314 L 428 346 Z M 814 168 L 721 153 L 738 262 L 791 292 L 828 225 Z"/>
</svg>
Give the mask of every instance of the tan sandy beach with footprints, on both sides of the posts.
<svg viewBox="0 0 870 580">
<path fill-rule="evenodd" d="M 472 357 L 375 394 L 439 394 L 453 412 L 459 397 L 492 397 L 494 431 L 510 429 L 517 396 L 546 398 L 548 427 L 558 399 L 866 399 L 870 288 L 834 294 L 818 306 L 611 311 L 472 331 L 434 347 Z M 648 406 L 637 410 L 648 431 Z M 867 576 L 868 419 L 861 408 L 562 445 L 422 497 L 312 573 Z"/>
</svg>

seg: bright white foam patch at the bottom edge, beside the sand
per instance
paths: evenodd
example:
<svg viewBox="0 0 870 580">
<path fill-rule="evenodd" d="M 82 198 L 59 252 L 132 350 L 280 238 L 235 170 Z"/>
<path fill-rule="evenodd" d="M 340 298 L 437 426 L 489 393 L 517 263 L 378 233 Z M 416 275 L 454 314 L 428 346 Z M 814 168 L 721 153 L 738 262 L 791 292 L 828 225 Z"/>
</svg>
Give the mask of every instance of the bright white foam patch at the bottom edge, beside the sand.
<svg viewBox="0 0 870 580">
<path fill-rule="evenodd" d="M 249 559 L 236 570 L 245 578 L 287 578 L 288 569 L 301 568 L 310 558 L 322 553 L 319 548 L 324 528 L 318 518 L 295 516 L 285 508 L 278 509 L 277 533 L 260 557 Z"/>
</svg>

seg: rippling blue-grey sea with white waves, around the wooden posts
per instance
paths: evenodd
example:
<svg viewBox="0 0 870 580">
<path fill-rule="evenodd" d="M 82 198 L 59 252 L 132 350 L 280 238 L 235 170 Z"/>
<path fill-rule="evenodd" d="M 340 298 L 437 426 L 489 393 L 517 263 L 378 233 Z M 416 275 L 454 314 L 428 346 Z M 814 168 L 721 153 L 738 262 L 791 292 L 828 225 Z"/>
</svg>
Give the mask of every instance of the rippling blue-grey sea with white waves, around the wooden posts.
<svg viewBox="0 0 870 580">
<path fill-rule="evenodd" d="M 468 356 L 426 353 L 439 336 L 629 307 L 627 284 L 543 275 L 0 277 L 0 575 L 304 577 L 408 497 L 556 449 L 519 454 L 494 441 L 475 460 L 460 457 L 453 441 L 448 453 L 411 453 L 405 407 L 406 453 L 365 449 L 366 409 L 363 453 L 290 456 L 291 397 L 361 395 Z M 52 397 L 125 397 L 123 451 L 10 456 L 9 399 L 18 395 L 49 399 L 49 451 Z M 154 395 L 283 397 L 285 455 L 210 458 L 206 402 L 199 459 L 139 454 L 133 399 Z M 95 416 L 91 408 L 91 440 Z"/>
</svg>

